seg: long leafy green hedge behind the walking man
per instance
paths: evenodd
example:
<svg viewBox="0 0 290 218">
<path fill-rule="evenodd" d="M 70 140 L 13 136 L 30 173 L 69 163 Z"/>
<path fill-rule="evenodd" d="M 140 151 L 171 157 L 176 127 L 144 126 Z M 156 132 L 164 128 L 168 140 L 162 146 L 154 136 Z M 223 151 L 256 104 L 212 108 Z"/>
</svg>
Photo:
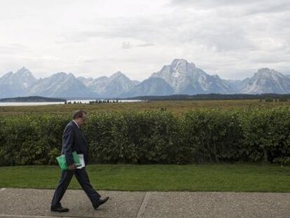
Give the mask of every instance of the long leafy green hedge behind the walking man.
<svg viewBox="0 0 290 218">
<path fill-rule="evenodd" d="M 69 116 L 0 114 L 0 165 L 56 164 Z M 90 163 L 290 163 L 290 109 L 90 114 Z"/>
</svg>

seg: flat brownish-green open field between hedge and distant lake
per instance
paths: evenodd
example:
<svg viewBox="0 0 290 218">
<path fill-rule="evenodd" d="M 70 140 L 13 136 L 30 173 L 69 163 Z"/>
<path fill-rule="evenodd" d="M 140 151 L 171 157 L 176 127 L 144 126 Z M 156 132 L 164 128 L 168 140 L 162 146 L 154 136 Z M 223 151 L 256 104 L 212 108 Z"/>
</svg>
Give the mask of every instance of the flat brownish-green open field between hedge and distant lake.
<svg viewBox="0 0 290 218">
<path fill-rule="evenodd" d="M 160 110 L 166 108 L 174 114 L 180 114 L 192 109 L 236 109 L 261 107 L 271 108 L 290 106 L 289 102 L 260 102 L 259 100 L 205 100 L 205 101 L 152 101 L 152 102 L 123 102 L 102 104 L 55 104 L 41 106 L 0 107 L 0 114 L 71 114 L 76 109 L 85 109 L 90 113 L 102 111 L 128 110 Z"/>
</svg>

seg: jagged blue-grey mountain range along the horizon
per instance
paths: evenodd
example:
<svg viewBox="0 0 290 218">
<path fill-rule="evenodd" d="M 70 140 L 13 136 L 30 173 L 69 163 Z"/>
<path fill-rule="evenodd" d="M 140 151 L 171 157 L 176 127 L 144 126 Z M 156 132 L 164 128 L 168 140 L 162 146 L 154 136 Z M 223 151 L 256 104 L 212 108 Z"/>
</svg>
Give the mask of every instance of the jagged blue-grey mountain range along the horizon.
<svg viewBox="0 0 290 218">
<path fill-rule="evenodd" d="M 258 69 L 254 76 L 243 80 L 221 79 L 209 75 L 195 64 L 175 59 L 144 81 L 134 81 L 118 71 L 97 79 L 75 77 L 59 72 L 47 78 L 36 79 L 22 67 L 15 73 L 0 77 L 0 98 L 38 95 L 43 97 L 116 98 L 146 95 L 195 95 L 290 93 L 290 75 L 274 69 Z"/>
</svg>

